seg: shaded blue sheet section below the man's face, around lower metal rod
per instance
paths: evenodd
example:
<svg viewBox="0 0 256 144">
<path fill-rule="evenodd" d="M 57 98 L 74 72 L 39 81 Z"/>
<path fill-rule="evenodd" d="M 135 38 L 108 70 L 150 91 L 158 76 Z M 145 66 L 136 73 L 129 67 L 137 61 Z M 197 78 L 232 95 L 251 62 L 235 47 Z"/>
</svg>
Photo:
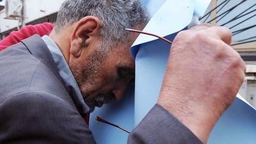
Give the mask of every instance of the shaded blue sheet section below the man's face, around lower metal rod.
<svg viewBox="0 0 256 144">
<path fill-rule="evenodd" d="M 119 103 L 104 105 L 96 108 L 91 114 L 89 128 L 98 144 L 127 143 L 128 133 L 116 127 L 95 120 L 95 116 L 117 124 L 124 129 L 133 130 L 134 127 L 134 85 L 127 88 Z"/>
</svg>

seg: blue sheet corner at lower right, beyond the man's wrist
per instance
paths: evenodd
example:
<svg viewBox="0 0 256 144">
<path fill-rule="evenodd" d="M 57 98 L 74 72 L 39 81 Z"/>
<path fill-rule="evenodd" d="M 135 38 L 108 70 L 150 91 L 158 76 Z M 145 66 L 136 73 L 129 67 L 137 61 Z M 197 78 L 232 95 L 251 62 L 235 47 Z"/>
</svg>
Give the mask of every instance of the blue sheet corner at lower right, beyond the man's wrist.
<svg viewBox="0 0 256 144">
<path fill-rule="evenodd" d="M 256 143 L 256 111 L 236 98 L 214 127 L 209 144 Z"/>
</svg>

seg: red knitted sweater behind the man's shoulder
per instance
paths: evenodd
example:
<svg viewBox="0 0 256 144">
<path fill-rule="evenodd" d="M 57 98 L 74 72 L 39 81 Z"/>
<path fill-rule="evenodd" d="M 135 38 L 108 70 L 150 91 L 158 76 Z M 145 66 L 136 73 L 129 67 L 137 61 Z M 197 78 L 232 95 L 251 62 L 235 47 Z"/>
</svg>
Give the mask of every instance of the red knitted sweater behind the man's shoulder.
<svg viewBox="0 0 256 144">
<path fill-rule="evenodd" d="M 8 37 L 5 37 L 0 41 L 0 51 L 12 46 L 13 44 L 19 43 L 21 40 L 27 39 L 34 34 L 39 34 L 39 36 L 49 35 L 53 29 L 52 23 L 43 23 L 37 25 L 27 25 L 19 31 L 12 31 Z"/>
</svg>

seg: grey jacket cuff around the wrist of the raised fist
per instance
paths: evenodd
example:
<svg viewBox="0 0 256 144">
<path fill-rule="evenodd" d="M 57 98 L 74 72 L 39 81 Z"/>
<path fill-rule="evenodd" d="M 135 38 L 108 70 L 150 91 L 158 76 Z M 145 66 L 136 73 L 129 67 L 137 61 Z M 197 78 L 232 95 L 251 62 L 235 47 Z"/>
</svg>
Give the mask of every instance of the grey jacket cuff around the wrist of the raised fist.
<svg viewBox="0 0 256 144">
<path fill-rule="evenodd" d="M 129 135 L 128 143 L 202 143 L 171 113 L 156 104 Z"/>
</svg>

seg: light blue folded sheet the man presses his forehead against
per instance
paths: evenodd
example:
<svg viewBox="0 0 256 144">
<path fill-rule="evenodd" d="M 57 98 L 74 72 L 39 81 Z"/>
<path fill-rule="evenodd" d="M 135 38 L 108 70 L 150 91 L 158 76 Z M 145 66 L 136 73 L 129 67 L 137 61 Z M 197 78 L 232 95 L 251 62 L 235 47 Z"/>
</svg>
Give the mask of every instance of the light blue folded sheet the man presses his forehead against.
<svg viewBox="0 0 256 144">
<path fill-rule="evenodd" d="M 143 4 L 153 15 L 143 31 L 173 40 L 178 31 L 187 28 L 193 17 L 203 15 L 210 0 L 151 0 L 143 1 Z M 134 129 L 156 103 L 170 47 L 165 41 L 140 34 L 131 48 L 136 61 L 135 96 L 133 87 L 130 87 L 119 103 L 96 108 L 91 114 L 89 127 L 97 143 L 127 142 L 126 132 L 96 121 L 95 116 L 128 130 Z M 242 101 L 242 98 L 236 98 L 220 117 L 208 143 L 255 143 L 255 120 L 255 109 Z"/>
</svg>

